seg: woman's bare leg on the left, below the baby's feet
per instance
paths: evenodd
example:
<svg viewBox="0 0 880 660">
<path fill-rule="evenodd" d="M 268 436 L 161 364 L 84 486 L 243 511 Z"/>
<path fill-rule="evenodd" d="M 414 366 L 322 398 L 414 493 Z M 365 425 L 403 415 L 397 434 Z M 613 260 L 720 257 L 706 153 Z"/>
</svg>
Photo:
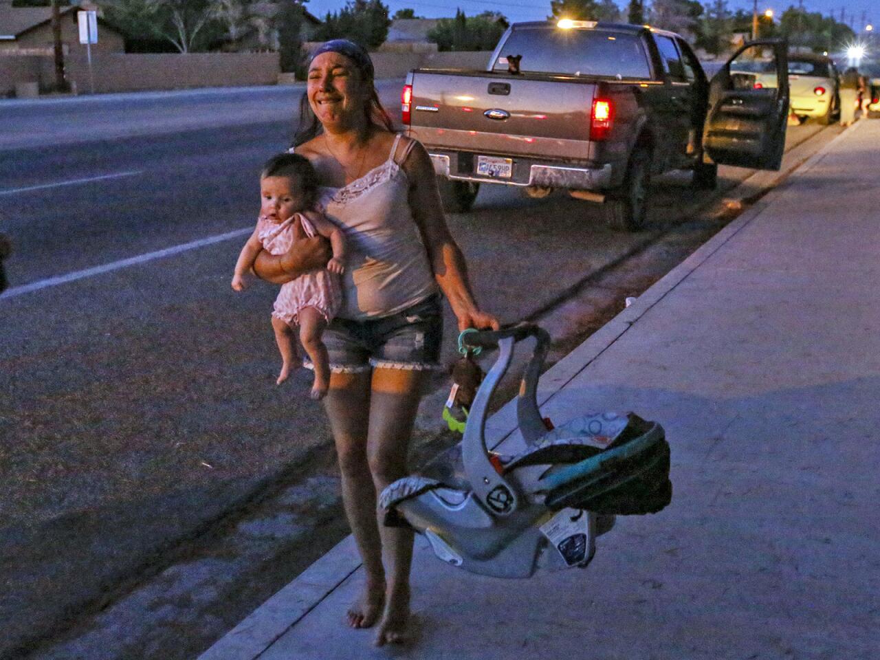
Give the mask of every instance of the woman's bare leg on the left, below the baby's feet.
<svg viewBox="0 0 880 660">
<path fill-rule="evenodd" d="M 324 399 L 342 475 L 342 503 L 363 560 L 363 591 L 348 608 L 348 625 L 370 627 L 385 603 L 382 539 L 376 521 L 376 488 L 367 462 L 370 420 L 370 371 L 334 373 Z"/>
</svg>

